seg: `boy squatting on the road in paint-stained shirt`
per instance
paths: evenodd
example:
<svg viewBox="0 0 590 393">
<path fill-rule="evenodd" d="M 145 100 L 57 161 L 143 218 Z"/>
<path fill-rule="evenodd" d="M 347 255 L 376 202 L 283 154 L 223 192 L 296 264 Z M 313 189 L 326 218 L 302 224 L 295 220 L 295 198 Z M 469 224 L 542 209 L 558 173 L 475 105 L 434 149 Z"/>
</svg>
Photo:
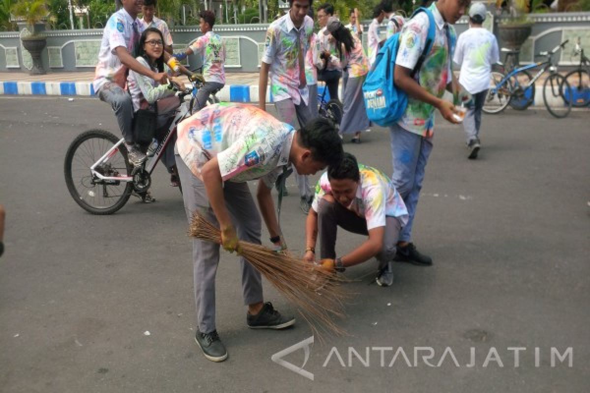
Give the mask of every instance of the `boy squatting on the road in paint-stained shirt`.
<svg viewBox="0 0 590 393">
<path fill-rule="evenodd" d="M 342 161 L 330 166 L 317 183 L 307 215 L 303 259 L 314 262 L 319 235 L 325 270 L 343 272 L 346 267 L 376 257 L 376 282 L 390 286 L 394 280 L 395 243 L 407 220 L 408 211 L 391 180 L 380 170 L 359 164 L 355 156 L 344 153 Z M 338 227 L 368 239 L 347 255 L 336 257 Z"/>
</svg>

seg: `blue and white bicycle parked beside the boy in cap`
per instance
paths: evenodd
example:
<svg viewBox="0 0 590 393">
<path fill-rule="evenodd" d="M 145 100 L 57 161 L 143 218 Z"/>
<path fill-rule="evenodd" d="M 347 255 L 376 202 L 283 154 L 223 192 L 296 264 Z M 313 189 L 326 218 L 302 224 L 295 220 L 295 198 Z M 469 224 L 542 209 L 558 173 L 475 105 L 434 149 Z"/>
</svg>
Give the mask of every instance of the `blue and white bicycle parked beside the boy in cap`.
<svg viewBox="0 0 590 393">
<path fill-rule="evenodd" d="M 571 88 L 565 77 L 557 72 L 557 67 L 553 64 L 553 55 L 560 48 L 564 48 L 567 43 L 568 40 L 562 42 L 550 52 L 540 52 L 539 56 L 545 56 L 545 61 L 514 68 L 506 75 L 502 75 L 499 82 L 494 81 L 494 75 L 492 75 L 492 86 L 488 90 L 483 111 L 490 114 L 500 113 L 512 101 L 513 97 L 516 97 L 517 100 L 527 99 L 524 95 L 526 91 L 530 91 L 534 98 L 535 82 L 545 71 L 549 70 L 549 76 L 543 84 L 543 102 L 549 113 L 554 117 L 566 117 L 572 110 Z M 525 78 L 530 77 L 530 74 L 526 71 L 537 67 L 540 67 L 539 72 L 528 82 L 522 83 L 523 75 L 525 75 Z"/>
</svg>

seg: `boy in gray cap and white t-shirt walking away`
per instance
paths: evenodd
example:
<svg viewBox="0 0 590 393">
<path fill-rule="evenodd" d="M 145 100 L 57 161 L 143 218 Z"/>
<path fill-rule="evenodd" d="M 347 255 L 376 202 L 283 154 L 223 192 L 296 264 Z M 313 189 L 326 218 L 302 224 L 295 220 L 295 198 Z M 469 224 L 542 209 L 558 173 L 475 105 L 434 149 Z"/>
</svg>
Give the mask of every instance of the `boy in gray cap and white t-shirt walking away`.
<svg viewBox="0 0 590 393">
<path fill-rule="evenodd" d="M 483 3 L 470 6 L 469 29 L 459 36 L 453 58 L 461 66 L 459 83 L 473 97 L 463 120 L 470 160 L 475 160 L 480 150 L 481 108 L 487 97 L 491 65 L 500 61 L 496 37 L 481 27 L 486 12 Z"/>
</svg>

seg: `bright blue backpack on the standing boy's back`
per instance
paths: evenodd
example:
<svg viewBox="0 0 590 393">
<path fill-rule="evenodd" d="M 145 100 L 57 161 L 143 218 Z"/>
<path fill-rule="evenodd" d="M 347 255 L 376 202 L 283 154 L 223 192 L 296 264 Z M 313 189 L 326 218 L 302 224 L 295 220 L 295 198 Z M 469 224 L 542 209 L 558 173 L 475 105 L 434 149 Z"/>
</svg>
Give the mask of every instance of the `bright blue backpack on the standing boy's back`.
<svg viewBox="0 0 590 393">
<path fill-rule="evenodd" d="M 418 58 L 416 67 L 412 70 L 412 78 L 430 53 L 436 34 L 436 24 L 430 9 L 420 7 L 414 11 L 412 18 L 418 12 L 426 12 L 428 15 L 428 35 L 424 51 Z M 389 126 L 399 120 L 408 106 L 408 95 L 394 84 L 395 58 L 398 54 L 400 40 L 401 32 L 397 32 L 385 41 L 377 53 L 375 64 L 363 83 L 363 99 L 367 116 L 373 123 L 382 127 Z"/>
</svg>

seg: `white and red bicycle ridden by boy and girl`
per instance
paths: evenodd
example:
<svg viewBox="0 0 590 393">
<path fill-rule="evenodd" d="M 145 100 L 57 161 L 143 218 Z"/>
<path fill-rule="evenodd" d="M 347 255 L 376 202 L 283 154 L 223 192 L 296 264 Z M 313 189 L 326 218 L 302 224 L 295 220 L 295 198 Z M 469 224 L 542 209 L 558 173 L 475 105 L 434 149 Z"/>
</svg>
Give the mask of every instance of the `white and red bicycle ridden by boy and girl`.
<svg viewBox="0 0 590 393">
<path fill-rule="evenodd" d="M 91 214 L 113 214 L 135 194 L 146 201 L 152 185 L 152 173 L 166 146 L 176 133 L 176 126 L 189 117 L 191 108 L 184 98 L 191 94 L 194 100 L 204 80 L 201 75 L 191 78 L 192 88 L 179 90 L 181 105 L 160 143 L 152 144 L 148 159 L 133 167 L 127 158 L 124 138 L 106 130 L 93 128 L 77 136 L 68 147 L 64 160 L 65 184 L 76 203 Z M 181 188 L 182 192 L 182 188 Z"/>
</svg>

